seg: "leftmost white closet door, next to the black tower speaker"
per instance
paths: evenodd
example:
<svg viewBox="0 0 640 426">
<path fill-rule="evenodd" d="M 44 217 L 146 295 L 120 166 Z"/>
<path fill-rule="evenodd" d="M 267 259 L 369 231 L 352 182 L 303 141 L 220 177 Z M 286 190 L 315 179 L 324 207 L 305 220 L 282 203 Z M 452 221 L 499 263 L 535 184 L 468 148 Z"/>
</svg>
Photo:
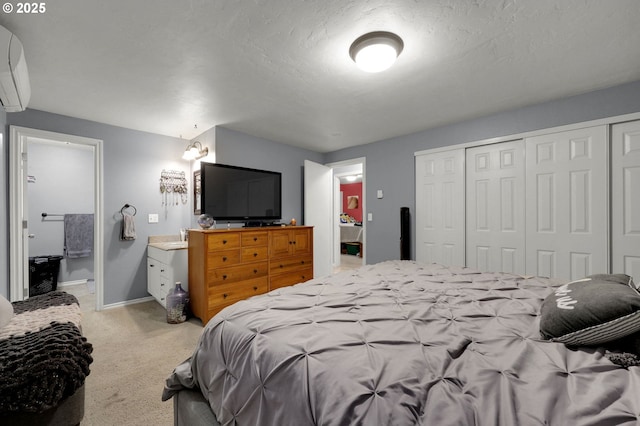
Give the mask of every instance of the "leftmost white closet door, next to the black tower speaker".
<svg viewBox="0 0 640 426">
<path fill-rule="evenodd" d="M 464 265 L 464 149 L 416 156 L 416 260 Z"/>
</svg>

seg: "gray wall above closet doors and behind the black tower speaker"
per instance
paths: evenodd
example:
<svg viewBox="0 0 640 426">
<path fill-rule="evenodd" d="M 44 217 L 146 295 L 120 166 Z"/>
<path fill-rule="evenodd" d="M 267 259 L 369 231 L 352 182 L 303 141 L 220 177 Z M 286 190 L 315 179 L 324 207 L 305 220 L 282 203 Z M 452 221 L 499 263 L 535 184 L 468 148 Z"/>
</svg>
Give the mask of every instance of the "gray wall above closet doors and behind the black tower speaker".
<svg viewBox="0 0 640 426">
<path fill-rule="evenodd" d="M 430 148 L 640 112 L 640 81 L 533 105 L 424 132 L 336 151 L 326 163 L 366 157 L 367 263 L 399 259 L 400 207 L 409 207 L 415 229 L 414 153 Z M 382 189 L 384 198 L 377 199 Z M 366 215 L 365 215 L 366 216 Z M 415 242 L 412 241 L 415 253 Z"/>
</svg>

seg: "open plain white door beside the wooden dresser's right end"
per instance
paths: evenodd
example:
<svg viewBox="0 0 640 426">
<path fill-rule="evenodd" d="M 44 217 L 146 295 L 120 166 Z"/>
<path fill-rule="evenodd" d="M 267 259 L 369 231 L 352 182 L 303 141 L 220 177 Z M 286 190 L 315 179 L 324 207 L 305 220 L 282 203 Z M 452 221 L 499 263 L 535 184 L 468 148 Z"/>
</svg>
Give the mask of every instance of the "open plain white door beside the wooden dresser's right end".
<svg viewBox="0 0 640 426">
<path fill-rule="evenodd" d="M 313 275 L 331 274 L 333 247 L 333 171 L 304 162 L 304 224 L 313 226 Z"/>
</svg>

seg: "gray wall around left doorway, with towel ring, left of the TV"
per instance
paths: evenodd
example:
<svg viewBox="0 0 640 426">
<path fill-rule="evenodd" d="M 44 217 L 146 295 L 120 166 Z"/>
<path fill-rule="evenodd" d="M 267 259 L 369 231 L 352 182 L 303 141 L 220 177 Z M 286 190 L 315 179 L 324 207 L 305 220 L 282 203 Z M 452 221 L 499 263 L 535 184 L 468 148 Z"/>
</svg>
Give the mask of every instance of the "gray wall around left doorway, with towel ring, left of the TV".
<svg viewBox="0 0 640 426">
<path fill-rule="evenodd" d="M 189 174 L 189 163 L 181 159 L 186 141 L 35 110 L 9 114 L 7 124 L 104 141 L 104 304 L 147 297 L 148 236 L 178 234 L 191 220 L 190 201 L 163 207 L 159 190 L 163 169 Z M 3 155 L 7 153 L 5 148 Z M 120 209 L 125 203 L 138 210 L 134 241 L 119 239 Z M 0 205 L 7 209 L 6 196 Z M 149 213 L 157 213 L 159 223 L 147 223 Z M 5 218 L 3 228 L 7 226 Z M 3 261 L 8 261 L 6 256 Z"/>
</svg>

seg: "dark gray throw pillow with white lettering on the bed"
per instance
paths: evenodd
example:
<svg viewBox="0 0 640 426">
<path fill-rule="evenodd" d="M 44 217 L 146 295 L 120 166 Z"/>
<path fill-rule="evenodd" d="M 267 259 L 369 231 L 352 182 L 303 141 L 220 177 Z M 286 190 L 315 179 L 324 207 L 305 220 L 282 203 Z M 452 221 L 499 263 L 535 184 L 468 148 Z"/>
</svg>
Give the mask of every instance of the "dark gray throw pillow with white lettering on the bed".
<svg viewBox="0 0 640 426">
<path fill-rule="evenodd" d="M 599 345 L 640 331 L 640 293 L 628 275 L 590 275 L 558 287 L 540 315 L 545 339 Z"/>
</svg>

